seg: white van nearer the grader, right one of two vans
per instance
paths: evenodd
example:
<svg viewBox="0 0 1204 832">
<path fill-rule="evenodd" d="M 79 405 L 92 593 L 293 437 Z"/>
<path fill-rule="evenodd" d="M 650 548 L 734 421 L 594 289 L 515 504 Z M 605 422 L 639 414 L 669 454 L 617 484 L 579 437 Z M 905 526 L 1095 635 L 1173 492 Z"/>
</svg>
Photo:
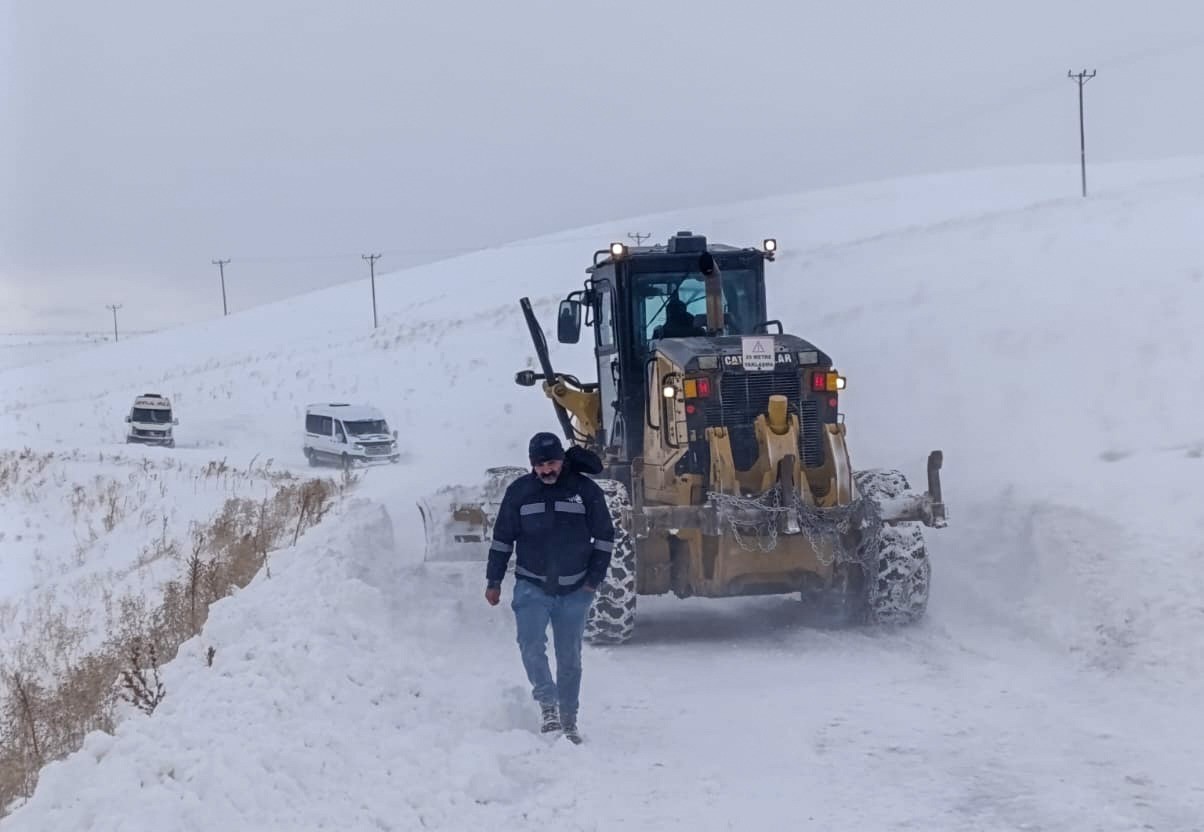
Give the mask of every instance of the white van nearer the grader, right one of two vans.
<svg viewBox="0 0 1204 832">
<path fill-rule="evenodd" d="M 384 414 L 371 405 L 330 402 L 305 409 L 305 456 L 350 467 L 354 462 L 396 462 L 397 431 L 389 431 Z"/>
</svg>

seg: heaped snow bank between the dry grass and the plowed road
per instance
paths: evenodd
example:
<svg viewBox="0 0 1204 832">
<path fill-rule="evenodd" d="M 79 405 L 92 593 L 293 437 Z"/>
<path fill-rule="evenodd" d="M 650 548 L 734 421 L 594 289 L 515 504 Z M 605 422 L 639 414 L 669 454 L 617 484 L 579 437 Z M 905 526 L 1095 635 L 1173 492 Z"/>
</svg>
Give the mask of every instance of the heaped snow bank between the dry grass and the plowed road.
<svg viewBox="0 0 1204 832">
<path fill-rule="evenodd" d="M 271 578 L 213 606 L 164 668 L 152 718 L 135 713 L 47 766 L 37 803 L 5 825 L 129 830 L 131 809 L 141 828 L 489 822 L 489 803 L 520 787 L 498 754 L 537 739 L 465 744 L 484 714 L 454 713 L 466 668 L 415 649 L 415 613 L 390 606 L 395 559 L 388 514 L 352 502 L 273 556 Z"/>
</svg>

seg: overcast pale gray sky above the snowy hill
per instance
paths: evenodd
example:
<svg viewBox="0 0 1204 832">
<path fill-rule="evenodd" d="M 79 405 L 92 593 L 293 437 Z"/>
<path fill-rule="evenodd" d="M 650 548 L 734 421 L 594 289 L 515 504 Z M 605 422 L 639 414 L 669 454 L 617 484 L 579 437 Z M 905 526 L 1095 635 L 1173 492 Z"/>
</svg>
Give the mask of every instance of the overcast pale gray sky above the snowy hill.
<svg viewBox="0 0 1204 832">
<path fill-rule="evenodd" d="M 886 176 L 1196 154 L 1196 0 L 0 0 L 0 330 Z M 589 248 L 586 246 L 585 248 Z M 590 249 L 592 250 L 592 249 Z M 585 258 L 583 248 L 583 261 Z"/>
</svg>

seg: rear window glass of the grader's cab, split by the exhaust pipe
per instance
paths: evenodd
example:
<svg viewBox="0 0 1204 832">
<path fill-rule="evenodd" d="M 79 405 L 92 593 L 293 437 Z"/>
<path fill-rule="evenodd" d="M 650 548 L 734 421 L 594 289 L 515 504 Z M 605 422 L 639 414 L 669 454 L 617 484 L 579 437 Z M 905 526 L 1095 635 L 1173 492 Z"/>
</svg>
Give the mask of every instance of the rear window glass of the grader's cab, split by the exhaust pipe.
<svg viewBox="0 0 1204 832">
<path fill-rule="evenodd" d="M 639 349 L 655 338 L 706 335 L 707 288 L 698 273 L 635 276 Z M 724 271 L 724 334 L 749 335 L 757 324 L 756 279 L 749 270 Z"/>
</svg>

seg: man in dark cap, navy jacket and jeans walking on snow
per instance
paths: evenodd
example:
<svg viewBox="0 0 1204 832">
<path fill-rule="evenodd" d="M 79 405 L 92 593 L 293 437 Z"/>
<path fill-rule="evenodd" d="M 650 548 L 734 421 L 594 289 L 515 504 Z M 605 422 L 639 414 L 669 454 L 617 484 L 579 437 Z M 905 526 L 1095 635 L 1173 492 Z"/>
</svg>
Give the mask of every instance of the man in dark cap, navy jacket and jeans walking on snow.
<svg viewBox="0 0 1204 832">
<path fill-rule="evenodd" d="M 582 639 L 594 592 L 606 578 L 614 525 L 597 483 L 565 465 L 555 433 L 536 433 L 527 447 L 532 471 L 506 489 L 485 570 L 485 600 L 496 606 L 514 561 L 519 653 L 539 703 L 544 732 L 562 730 L 574 743 L 582 688 Z M 548 666 L 548 625 L 556 675 Z"/>
</svg>

